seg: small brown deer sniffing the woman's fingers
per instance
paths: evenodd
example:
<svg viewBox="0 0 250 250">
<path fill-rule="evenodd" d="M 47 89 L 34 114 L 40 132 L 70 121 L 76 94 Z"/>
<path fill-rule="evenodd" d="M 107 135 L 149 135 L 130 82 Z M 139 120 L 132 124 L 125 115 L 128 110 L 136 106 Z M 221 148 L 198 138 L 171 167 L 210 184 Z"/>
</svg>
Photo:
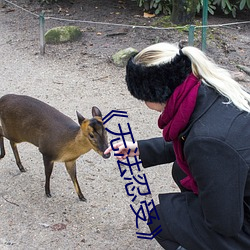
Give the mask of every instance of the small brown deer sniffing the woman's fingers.
<svg viewBox="0 0 250 250">
<path fill-rule="evenodd" d="M 92 107 L 92 115 L 93 118 L 86 119 L 77 112 L 79 126 L 57 109 L 37 99 L 24 95 L 5 95 L 0 98 L 0 158 L 5 156 L 5 137 L 10 141 L 18 168 L 25 172 L 16 144 L 32 143 L 43 155 L 46 195 L 51 197 L 50 176 L 54 162 L 64 162 L 79 199 L 86 201 L 77 181 L 77 158 L 91 149 L 103 158 L 110 157 L 110 154 L 104 154 L 108 139 L 101 111 Z"/>
</svg>

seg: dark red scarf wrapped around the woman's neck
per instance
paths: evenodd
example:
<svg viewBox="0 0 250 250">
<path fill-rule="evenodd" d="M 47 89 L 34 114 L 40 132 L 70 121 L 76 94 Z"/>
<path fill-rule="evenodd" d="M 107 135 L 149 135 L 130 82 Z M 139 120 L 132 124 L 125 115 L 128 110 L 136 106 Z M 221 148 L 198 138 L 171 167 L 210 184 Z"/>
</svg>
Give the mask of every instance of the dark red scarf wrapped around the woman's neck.
<svg viewBox="0 0 250 250">
<path fill-rule="evenodd" d="M 181 180 L 181 184 L 195 194 L 198 194 L 198 187 L 185 160 L 183 144 L 179 139 L 179 135 L 188 125 L 194 111 L 199 86 L 200 80 L 191 73 L 174 90 L 158 120 L 159 128 L 163 129 L 164 139 L 173 142 L 176 161 L 187 174 L 187 177 Z"/>
</svg>

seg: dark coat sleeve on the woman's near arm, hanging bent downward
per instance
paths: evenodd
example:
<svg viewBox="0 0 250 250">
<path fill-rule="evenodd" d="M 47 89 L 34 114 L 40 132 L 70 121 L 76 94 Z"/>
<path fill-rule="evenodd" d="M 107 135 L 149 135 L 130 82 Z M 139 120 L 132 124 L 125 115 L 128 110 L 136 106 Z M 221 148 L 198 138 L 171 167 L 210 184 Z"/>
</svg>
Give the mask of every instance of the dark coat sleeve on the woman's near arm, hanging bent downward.
<svg viewBox="0 0 250 250">
<path fill-rule="evenodd" d="M 224 236 L 237 235 L 244 220 L 246 162 L 225 141 L 209 137 L 187 141 L 184 154 L 198 185 L 205 223 Z"/>
</svg>

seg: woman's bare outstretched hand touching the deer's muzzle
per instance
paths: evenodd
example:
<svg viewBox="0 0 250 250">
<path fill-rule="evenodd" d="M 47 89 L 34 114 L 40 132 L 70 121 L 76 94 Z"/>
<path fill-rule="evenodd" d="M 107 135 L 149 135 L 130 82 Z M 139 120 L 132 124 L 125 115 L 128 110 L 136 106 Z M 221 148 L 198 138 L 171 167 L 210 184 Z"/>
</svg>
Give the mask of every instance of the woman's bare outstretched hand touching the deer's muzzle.
<svg viewBox="0 0 250 250">
<path fill-rule="evenodd" d="M 127 157 L 133 157 L 133 156 L 139 156 L 139 148 L 138 148 L 138 144 L 137 142 L 133 143 L 133 142 L 127 142 L 126 141 L 126 146 L 124 145 L 124 143 L 118 142 L 113 144 L 113 149 L 111 146 L 109 146 L 104 154 L 108 154 L 110 153 L 112 150 L 115 152 L 115 154 L 120 154 L 120 155 L 116 155 L 116 158 L 118 160 L 124 160 Z"/>
</svg>

